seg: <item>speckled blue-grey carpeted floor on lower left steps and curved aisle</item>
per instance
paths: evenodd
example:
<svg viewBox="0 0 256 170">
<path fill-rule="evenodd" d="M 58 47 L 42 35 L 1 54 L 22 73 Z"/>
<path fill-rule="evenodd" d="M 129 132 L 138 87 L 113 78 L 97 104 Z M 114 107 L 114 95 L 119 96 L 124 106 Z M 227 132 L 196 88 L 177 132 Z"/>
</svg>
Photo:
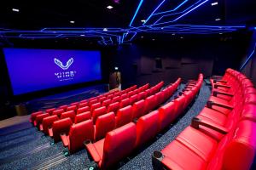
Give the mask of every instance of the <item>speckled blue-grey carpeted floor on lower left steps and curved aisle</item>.
<svg viewBox="0 0 256 170">
<path fill-rule="evenodd" d="M 182 88 L 183 85 L 180 87 Z M 154 150 L 161 150 L 169 144 L 178 133 L 189 126 L 206 105 L 210 90 L 203 85 L 195 103 L 190 106 L 177 122 L 159 134 L 154 140 L 145 144 L 140 150 L 119 162 L 118 169 L 153 169 L 151 156 Z M 29 124 L 29 122 L 27 122 Z M 0 134 L 0 169 L 86 169 L 93 164 L 86 150 L 64 156 L 66 150 L 61 142 L 52 144 L 53 140 L 44 136 L 35 127 L 23 125 L 20 131 Z"/>
</svg>

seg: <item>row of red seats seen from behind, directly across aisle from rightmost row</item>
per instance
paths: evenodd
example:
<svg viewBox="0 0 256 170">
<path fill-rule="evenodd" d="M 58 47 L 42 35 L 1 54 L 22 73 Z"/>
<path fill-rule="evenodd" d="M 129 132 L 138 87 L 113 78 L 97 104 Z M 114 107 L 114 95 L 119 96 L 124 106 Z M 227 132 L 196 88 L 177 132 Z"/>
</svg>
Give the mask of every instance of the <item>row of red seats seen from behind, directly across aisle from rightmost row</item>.
<svg viewBox="0 0 256 170">
<path fill-rule="evenodd" d="M 180 79 L 178 81 L 180 82 Z M 189 104 L 190 101 L 189 92 L 197 94 L 201 88 L 201 83 L 202 75 L 200 75 L 198 82 L 193 84 L 193 87 L 185 90 L 187 95 L 182 94 L 177 99 L 161 106 L 158 111 L 152 111 L 141 116 L 136 123 L 130 122 L 107 133 L 105 139 L 96 143 L 91 143 L 89 140 L 85 142 L 85 147 L 97 166 L 101 169 L 109 168 L 128 156 L 133 150 L 153 139 L 157 133 L 160 133 L 173 122 L 174 117 L 184 111 L 186 104 Z"/>
</svg>

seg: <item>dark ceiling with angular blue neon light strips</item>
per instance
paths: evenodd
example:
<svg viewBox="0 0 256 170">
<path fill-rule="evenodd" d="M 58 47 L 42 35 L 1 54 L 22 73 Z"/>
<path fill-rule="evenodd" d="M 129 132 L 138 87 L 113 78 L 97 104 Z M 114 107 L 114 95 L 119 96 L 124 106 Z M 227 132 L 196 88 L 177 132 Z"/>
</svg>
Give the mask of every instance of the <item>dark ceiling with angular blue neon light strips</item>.
<svg viewBox="0 0 256 170">
<path fill-rule="evenodd" d="M 0 36 L 111 45 L 147 34 L 224 34 L 254 28 L 255 8 L 255 0 L 9 0 L 0 6 Z"/>
</svg>

